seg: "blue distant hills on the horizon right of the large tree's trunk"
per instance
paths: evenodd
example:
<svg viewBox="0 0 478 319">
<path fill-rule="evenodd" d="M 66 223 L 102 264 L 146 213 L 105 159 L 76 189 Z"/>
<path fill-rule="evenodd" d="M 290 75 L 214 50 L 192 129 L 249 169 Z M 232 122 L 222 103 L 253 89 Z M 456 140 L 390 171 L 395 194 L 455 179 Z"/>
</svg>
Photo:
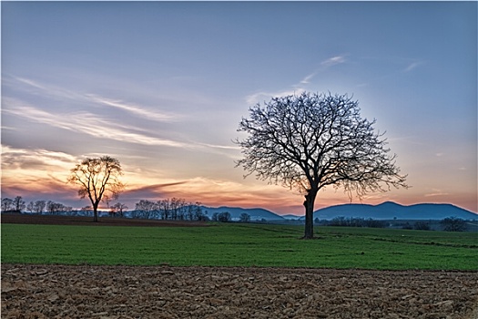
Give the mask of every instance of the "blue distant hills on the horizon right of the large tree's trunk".
<svg viewBox="0 0 478 319">
<path fill-rule="evenodd" d="M 314 218 L 332 220 L 335 217 L 364 218 L 373 220 L 442 220 L 457 217 L 463 220 L 478 220 L 478 214 L 463 210 L 452 204 L 416 204 L 403 206 L 392 201 L 379 205 L 343 204 L 314 211 Z M 304 219 L 302 216 L 301 220 Z"/>
</svg>

